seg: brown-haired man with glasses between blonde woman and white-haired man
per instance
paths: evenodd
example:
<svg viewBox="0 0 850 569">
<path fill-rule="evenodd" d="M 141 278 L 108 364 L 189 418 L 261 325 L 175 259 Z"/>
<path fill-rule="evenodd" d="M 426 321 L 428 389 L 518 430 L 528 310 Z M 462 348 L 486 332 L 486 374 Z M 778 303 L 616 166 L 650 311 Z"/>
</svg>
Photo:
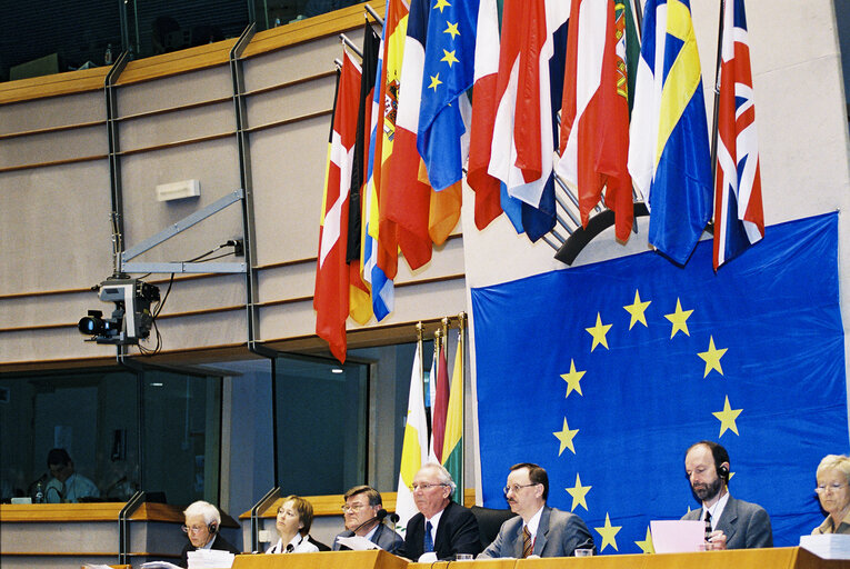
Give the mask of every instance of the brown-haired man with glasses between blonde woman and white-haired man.
<svg viewBox="0 0 850 569">
<path fill-rule="evenodd" d="M 333 550 L 349 549 L 339 542 L 339 538 L 360 536 L 377 543 L 384 551 L 397 552 L 404 540 L 392 528 L 383 523 L 378 515 L 383 510 L 381 495 L 371 486 L 356 486 L 344 495 L 346 505 L 342 515 L 346 520 L 346 531 L 333 538 Z M 383 510 L 383 515 L 387 511 Z"/>
</svg>

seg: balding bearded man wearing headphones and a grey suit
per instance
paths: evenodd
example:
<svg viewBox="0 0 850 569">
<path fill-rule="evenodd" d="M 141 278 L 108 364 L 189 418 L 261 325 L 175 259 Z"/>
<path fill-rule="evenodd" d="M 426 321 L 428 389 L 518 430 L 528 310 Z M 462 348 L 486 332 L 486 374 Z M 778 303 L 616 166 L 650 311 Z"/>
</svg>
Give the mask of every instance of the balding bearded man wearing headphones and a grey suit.
<svg viewBox="0 0 850 569">
<path fill-rule="evenodd" d="M 702 507 L 682 519 L 706 521 L 707 549 L 773 547 L 764 508 L 729 493 L 729 453 L 723 447 L 710 440 L 692 445 L 684 455 L 684 472 Z"/>
</svg>

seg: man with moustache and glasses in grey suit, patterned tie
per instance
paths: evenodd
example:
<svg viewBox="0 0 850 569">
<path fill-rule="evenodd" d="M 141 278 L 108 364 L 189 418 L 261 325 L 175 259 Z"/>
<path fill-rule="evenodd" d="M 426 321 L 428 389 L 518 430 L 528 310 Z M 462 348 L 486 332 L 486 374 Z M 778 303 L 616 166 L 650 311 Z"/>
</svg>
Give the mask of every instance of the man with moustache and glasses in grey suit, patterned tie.
<svg viewBox="0 0 850 569">
<path fill-rule="evenodd" d="M 529 556 L 569 557 L 576 549 L 594 549 L 584 521 L 568 511 L 546 505 L 549 476 L 530 462 L 511 467 L 504 498 L 511 511 L 519 513 L 502 523 L 499 535 L 479 559 Z"/>
</svg>

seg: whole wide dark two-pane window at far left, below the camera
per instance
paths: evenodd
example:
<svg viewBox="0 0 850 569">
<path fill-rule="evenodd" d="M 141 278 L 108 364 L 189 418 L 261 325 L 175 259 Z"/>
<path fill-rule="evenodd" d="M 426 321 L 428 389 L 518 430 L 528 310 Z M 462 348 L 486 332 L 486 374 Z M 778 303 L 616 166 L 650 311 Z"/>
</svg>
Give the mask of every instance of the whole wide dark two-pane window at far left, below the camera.
<svg viewBox="0 0 850 569">
<path fill-rule="evenodd" d="M 36 499 L 40 488 L 49 501 L 126 501 L 139 489 L 170 503 L 216 501 L 220 425 L 219 377 L 123 369 L 3 376 L 0 500 Z M 67 490 L 50 482 L 51 449 L 64 449 L 73 473 L 97 490 L 79 499 L 50 490 Z"/>
</svg>

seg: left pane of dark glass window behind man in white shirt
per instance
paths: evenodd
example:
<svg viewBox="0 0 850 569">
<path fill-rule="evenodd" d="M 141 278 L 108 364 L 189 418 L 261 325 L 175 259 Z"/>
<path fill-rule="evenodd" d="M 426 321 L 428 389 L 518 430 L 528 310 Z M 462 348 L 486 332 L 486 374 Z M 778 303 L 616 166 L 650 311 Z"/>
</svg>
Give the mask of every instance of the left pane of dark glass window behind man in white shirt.
<svg viewBox="0 0 850 569">
<path fill-rule="evenodd" d="M 0 379 L 0 498 L 43 491 L 53 448 L 68 452 L 74 472 L 93 481 L 102 499 L 132 495 L 139 487 L 136 386 L 127 371 Z"/>
</svg>

